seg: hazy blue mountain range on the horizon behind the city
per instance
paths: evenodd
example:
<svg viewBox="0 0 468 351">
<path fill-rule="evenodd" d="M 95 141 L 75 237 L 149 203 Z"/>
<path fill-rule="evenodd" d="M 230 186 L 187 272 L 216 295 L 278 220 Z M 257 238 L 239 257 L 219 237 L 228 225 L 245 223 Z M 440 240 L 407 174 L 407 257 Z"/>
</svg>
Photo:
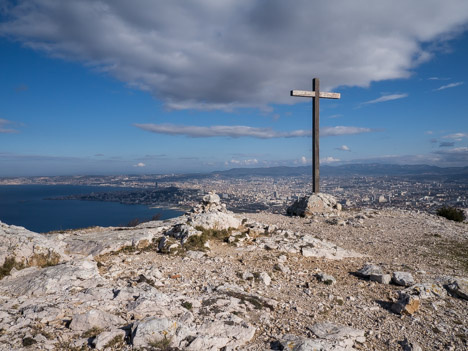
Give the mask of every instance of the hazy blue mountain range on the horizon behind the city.
<svg viewBox="0 0 468 351">
<path fill-rule="evenodd" d="M 212 172 L 225 177 L 270 176 L 294 177 L 312 174 L 311 166 L 233 168 Z M 323 176 L 468 176 L 468 167 L 437 167 L 428 165 L 349 164 L 320 167 Z"/>
</svg>

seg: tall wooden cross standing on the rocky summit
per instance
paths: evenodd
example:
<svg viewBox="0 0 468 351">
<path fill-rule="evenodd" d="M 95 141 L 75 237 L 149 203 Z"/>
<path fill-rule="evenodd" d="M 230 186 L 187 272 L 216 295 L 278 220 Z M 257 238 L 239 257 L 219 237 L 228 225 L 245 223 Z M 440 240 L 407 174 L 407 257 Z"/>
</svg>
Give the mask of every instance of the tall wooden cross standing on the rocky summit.
<svg viewBox="0 0 468 351">
<path fill-rule="evenodd" d="M 320 158 L 319 158 L 319 101 L 320 98 L 339 99 L 340 93 L 324 93 L 320 91 L 320 80 L 312 80 L 312 91 L 291 90 L 291 96 L 312 98 L 312 193 L 320 192 Z"/>
</svg>

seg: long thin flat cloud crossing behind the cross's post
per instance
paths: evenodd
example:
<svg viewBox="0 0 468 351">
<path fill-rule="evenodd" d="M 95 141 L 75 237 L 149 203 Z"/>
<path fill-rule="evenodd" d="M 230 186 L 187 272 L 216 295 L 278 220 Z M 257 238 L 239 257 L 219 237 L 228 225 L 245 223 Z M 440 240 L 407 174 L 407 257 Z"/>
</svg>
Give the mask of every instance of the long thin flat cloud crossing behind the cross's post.
<svg viewBox="0 0 468 351">
<path fill-rule="evenodd" d="M 135 127 L 148 132 L 168 135 L 185 135 L 191 138 L 209 138 L 209 137 L 252 137 L 259 139 L 272 138 L 297 138 L 310 137 L 310 130 L 293 130 L 289 132 L 278 132 L 272 128 L 254 128 L 248 126 L 185 126 L 175 124 L 134 124 Z M 361 134 L 374 131 L 370 128 L 361 127 L 324 127 L 321 129 L 322 136 L 335 136 L 345 134 Z"/>
</svg>

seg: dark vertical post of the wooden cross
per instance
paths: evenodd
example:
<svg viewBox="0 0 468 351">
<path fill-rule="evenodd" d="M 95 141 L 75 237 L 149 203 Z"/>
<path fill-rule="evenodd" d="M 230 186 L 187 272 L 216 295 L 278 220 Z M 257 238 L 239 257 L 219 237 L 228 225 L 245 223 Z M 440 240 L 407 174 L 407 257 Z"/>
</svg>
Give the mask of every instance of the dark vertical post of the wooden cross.
<svg viewBox="0 0 468 351">
<path fill-rule="evenodd" d="M 312 193 L 320 192 L 320 80 L 312 79 L 312 91 L 315 97 L 312 98 Z"/>
</svg>

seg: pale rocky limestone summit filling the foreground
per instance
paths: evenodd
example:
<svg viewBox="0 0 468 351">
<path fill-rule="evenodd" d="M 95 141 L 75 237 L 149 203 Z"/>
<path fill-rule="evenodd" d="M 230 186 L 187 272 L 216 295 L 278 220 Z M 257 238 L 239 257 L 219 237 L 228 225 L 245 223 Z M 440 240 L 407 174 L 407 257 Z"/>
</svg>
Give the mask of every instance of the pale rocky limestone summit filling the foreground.
<svg viewBox="0 0 468 351">
<path fill-rule="evenodd" d="M 0 350 L 467 349 L 468 224 L 337 205 L 233 214 L 209 193 L 131 228 L 0 222 Z"/>
</svg>

